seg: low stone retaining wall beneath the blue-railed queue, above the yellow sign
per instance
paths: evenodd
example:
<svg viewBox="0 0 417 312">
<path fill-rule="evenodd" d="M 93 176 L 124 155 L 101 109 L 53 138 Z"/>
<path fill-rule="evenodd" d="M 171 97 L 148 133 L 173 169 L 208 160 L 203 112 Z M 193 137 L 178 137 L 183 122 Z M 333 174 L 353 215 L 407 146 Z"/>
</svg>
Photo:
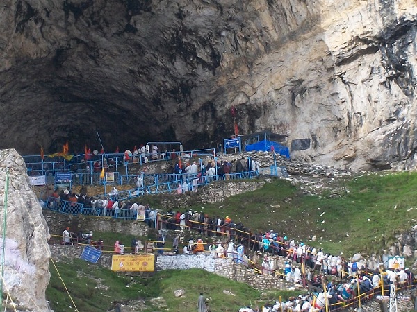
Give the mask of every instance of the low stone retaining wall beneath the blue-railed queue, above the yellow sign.
<svg viewBox="0 0 417 312">
<path fill-rule="evenodd" d="M 58 214 L 54 211 L 43 210 L 51 234 L 61 234 L 65 227 L 70 227 L 72 232 L 99 231 L 125 233 L 133 236 L 146 236 L 149 227 L 136 220 L 121 220 L 110 217 L 73 216 L 70 214 Z"/>
</svg>

